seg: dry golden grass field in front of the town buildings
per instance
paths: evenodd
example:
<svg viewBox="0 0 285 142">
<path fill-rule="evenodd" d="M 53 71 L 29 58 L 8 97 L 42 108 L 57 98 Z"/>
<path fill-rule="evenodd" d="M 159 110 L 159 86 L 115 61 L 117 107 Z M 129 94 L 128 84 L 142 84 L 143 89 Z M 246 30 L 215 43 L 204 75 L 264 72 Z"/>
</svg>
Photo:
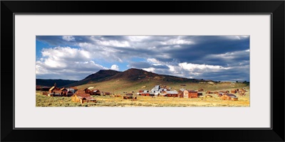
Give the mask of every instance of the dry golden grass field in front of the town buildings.
<svg viewBox="0 0 285 142">
<path fill-rule="evenodd" d="M 93 96 L 97 103 L 71 102 L 71 97 L 47 97 L 36 93 L 36 107 L 249 107 L 249 92 L 239 97 L 238 101 L 222 100 L 217 95 L 212 98 L 178 98 L 178 97 L 143 97 L 137 100 L 123 99 L 123 97 Z"/>
</svg>

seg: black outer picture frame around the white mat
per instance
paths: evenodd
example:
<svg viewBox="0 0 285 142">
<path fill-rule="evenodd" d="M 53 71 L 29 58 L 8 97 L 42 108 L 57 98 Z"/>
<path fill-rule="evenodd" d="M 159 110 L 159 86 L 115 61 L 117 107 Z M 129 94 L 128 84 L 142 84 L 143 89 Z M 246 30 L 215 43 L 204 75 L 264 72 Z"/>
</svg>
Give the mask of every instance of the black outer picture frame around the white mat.
<svg viewBox="0 0 285 142">
<path fill-rule="evenodd" d="M 284 141 L 284 3 L 1 1 L 1 141 Z M 271 129 L 14 129 L 14 13 L 271 13 Z"/>
</svg>

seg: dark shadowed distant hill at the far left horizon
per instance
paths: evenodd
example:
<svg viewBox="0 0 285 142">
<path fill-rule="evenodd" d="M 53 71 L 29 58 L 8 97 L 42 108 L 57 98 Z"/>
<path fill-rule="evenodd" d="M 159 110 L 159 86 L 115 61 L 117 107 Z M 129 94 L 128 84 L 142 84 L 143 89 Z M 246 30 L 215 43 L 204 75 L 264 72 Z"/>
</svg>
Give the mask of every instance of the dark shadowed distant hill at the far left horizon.
<svg viewBox="0 0 285 142">
<path fill-rule="evenodd" d="M 57 87 L 63 87 L 67 84 L 72 84 L 78 82 L 76 80 L 45 80 L 45 79 L 36 79 L 36 85 L 39 86 L 48 86 L 52 87 L 54 83 L 56 83 Z"/>
</svg>

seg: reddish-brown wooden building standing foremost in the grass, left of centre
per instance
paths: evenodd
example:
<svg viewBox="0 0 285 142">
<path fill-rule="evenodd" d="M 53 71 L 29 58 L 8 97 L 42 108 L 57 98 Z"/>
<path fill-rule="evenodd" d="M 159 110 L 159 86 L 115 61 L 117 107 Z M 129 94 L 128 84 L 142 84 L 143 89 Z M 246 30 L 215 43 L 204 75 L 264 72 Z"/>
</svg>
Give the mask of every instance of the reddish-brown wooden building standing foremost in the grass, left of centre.
<svg viewBox="0 0 285 142">
<path fill-rule="evenodd" d="M 91 97 L 90 94 L 86 94 L 85 91 L 78 91 L 71 96 L 71 101 L 83 104 L 85 102 L 96 102 L 96 99 Z"/>
</svg>

